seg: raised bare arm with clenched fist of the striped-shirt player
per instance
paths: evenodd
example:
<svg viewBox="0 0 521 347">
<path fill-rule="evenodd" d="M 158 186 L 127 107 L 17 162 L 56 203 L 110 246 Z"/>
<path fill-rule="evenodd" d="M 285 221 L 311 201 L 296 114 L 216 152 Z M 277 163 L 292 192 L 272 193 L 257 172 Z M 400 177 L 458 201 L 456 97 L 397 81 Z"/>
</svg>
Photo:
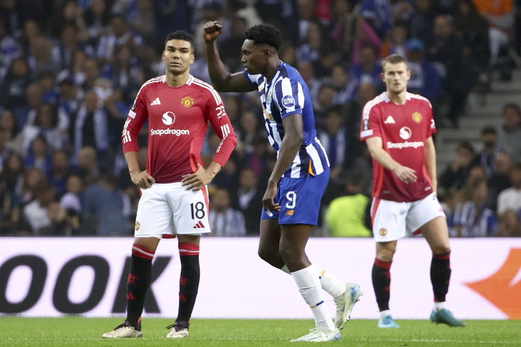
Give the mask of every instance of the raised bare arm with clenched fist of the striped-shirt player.
<svg viewBox="0 0 521 347">
<path fill-rule="evenodd" d="M 206 43 L 206 63 L 208 74 L 213 87 L 218 92 L 252 92 L 255 85 L 246 80 L 242 72 L 231 74 L 226 70 L 217 50 L 217 37 L 222 32 L 222 27 L 217 21 L 209 21 L 204 24 L 203 37 Z"/>
</svg>

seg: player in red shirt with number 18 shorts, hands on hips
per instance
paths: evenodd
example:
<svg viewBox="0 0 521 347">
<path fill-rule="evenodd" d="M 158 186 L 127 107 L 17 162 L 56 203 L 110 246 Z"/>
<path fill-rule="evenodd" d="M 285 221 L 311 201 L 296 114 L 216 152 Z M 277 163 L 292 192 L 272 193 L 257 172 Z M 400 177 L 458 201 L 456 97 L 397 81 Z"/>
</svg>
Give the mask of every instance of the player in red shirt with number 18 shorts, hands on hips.
<svg viewBox="0 0 521 347">
<path fill-rule="evenodd" d="M 206 185 L 228 161 L 237 136 L 221 98 L 209 84 L 193 78 L 194 38 L 169 34 L 163 60 L 166 74 L 141 87 L 123 127 L 122 143 L 132 182 L 141 188 L 127 284 L 127 319 L 104 338 L 141 337 L 141 314 L 151 282 L 152 259 L 162 237 L 179 240 L 179 312 L 168 338 L 188 337 L 199 288 L 199 242 L 209 233 Z M 146 170 L 138 165 L 137 136 L 148 120 Z M 208 122 L 221 139 L 204 168 L 201 148 Z"/>
</svg>

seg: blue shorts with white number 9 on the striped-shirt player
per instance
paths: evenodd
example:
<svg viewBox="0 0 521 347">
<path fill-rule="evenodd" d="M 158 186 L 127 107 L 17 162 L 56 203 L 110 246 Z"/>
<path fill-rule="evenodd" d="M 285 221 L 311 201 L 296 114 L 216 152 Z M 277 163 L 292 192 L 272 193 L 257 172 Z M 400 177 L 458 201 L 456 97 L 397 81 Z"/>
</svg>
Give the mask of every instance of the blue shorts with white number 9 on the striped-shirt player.
<svg viewBox="0 0 521 347">
<path fill-rule="evenodd" d="M 261 219 L 278 219 L 279 224 L 317 225 L 320 200 L 329 182 L 329 168 L 318 176 L 303 178 L 281 177 L 275 203 L 280 204 L 280 212 L 271 211 L 270 217 L 262 210 Z"/>
</svg>

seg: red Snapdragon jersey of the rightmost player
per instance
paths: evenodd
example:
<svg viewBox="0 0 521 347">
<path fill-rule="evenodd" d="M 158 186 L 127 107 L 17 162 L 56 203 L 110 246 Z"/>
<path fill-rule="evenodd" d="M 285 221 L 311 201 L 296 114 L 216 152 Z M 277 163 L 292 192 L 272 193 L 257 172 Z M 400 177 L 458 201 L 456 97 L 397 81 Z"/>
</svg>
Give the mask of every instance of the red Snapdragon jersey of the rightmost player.
<svg viewBox="0 0 521 347">
<path fill-rule="evenodd" d="M 367 102 L 362 111 L 360 139 L 378 136 L 392 159 L 416 171 L 417 181 L 405 184 L 394 172 L 373 159 L 373 197 L 410 202 L 425 198 L 432 184 L 425 169 L 425 141 L 436 126 L 432 106 L 423 96 L 407 93 L 404 105 L 395 105 L 386 93 Z"/>
</svg>

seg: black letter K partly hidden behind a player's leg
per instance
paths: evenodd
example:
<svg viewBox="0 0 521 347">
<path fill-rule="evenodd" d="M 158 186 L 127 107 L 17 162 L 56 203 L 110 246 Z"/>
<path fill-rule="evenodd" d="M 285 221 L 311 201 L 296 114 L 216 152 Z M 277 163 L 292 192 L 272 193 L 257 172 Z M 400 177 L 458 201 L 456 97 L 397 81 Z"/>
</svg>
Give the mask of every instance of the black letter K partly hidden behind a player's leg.
<svg viewBox="0 0 521 347">
<path fill-rule="evenodd" d="M 154 291 L 152 290 L 152 284 L 165 271 L 170 259 L 172 259 L 170 256 L 156 256 L 154 258 L 154 262 L 152 263 L 152 279 L 145 297 L 144 309 L 148 313 L 161 313 L 159 306 L 157 305 Z M 125 261 L 125 265 L 121 271 L 118 290 L 116 292 L 116 297 L 114 298 L 114 306 L 112 306 L 112 313 L 124 313 L 127 311 L 127 280 L 129 277 L 131 260 L 132 258 L 127 256 L 127 260 Z"/>
</svg>

